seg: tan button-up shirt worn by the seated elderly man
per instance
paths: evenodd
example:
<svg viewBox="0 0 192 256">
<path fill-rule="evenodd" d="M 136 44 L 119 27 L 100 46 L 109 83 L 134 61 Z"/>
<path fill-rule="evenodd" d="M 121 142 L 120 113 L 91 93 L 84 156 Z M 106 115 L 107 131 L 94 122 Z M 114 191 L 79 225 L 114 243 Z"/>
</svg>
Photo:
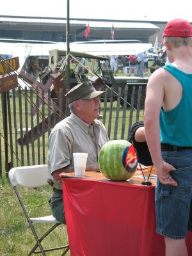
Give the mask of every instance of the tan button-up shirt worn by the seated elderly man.
<svg viewBox="0 0 192 256">
<path fill-rule="evenodd" d="M 56 124 L 49 136 L 47 156 L 48 179 L 52 180 L 53 186 L 62 189 L 61 180 L 54 180 L 51 173 L 69 164 L 73 166 L 74 152 L 88 153 L 87 164 L 95 164 L 100 148 L 107 141 L 108 132 L 99 120 L 88 125 L 72 113 Z"/>
</svg>

